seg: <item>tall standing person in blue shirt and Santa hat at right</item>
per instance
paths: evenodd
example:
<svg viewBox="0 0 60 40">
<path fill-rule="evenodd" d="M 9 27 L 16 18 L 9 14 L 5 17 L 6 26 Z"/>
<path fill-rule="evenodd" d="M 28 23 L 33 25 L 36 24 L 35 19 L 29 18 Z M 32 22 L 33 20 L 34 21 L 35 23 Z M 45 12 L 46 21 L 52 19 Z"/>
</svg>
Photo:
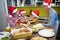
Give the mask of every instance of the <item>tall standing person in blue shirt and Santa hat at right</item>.
<svg viewBox="0 0 60 40">
<path fill-rule="evenodd" d="M 48 19 L 49 19 L 49 22 L 47 24 L 43 24 L 43 25 L 54 27 L 55 28 L 55 33 L 57 33 L 58 25 L 59 25 L 58 15 L 57 15 L 57 12 L 53 8 L 51 8 L 52 0 L 44 0 L 43 1 L 43 6 L 48 13 Z"/>
</svg>

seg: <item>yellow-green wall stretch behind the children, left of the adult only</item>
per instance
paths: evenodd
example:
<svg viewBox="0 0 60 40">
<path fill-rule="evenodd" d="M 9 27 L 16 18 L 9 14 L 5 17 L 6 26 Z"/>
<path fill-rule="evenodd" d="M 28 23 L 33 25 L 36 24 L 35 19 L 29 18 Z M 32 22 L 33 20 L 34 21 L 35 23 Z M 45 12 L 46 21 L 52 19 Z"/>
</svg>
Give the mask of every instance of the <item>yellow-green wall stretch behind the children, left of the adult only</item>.
<svg viewBox="0 0 60 40">
<path fill-rule="evenodd" d="M 39 16 L 41 16 L 41 17 L 47 17 L 46 10 L 43 7 L 41 7 L 41 6 L 39 6 L 39 7 L 27 6 L 27 7 L 17 7 L 17 8 L 18 8 L 18 10 L 19 9 L 26 10 L 26 15 L 29 15 L 30 14 L 30 10 L 32 10 L 32 11 L 39 10 Z"/>
</svg>

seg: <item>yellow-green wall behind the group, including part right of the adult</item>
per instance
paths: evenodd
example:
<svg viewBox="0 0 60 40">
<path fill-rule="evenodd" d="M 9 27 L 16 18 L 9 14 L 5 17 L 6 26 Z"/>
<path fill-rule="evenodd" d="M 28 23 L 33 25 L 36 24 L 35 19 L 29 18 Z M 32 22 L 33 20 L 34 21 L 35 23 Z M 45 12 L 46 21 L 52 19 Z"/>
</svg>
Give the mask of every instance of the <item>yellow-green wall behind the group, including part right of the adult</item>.
<svg viewBox="0 0 60 40">
<path fill-rule="evenodd" d="M 19 9 L 26 10 L 26 15 L 29 15 L 30 14 L 30 10 L 34 11 L 34 10 L 37 9 L 37 10 L 40 11 L 39 16 L 41 16 L 41 17 L 46 17 L 47 16 L 46 10 L 43 7 L 41 7 L 41 6 L 37 6 L 37 7 L 34 7 L 34 6 L 26 6 L 26 7 L 17 7 L 17 8 L 18 8 L 18 10 Z M 60 15 L 60 7 L 53 7 L 53 8 L 57 11 L 58 15 Z"/>
</svg>

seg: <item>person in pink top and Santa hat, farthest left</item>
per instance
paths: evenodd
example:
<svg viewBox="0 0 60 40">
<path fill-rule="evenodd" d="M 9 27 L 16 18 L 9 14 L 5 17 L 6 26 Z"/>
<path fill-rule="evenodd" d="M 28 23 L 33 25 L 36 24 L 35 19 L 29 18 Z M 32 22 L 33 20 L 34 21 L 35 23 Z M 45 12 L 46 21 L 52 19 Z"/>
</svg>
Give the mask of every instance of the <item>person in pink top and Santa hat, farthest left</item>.
<svg viewBox="0 0 60 40">
<path fill-rule="evenodd" d="M 8 11 L 9 14 L 7 17 L 7 21 L 10 27 L 15 27 L 15 25 L 17 24 L 16 20 L 18 19 L 17 8 L 14 6 L 9 6 Z"/>
</svg>

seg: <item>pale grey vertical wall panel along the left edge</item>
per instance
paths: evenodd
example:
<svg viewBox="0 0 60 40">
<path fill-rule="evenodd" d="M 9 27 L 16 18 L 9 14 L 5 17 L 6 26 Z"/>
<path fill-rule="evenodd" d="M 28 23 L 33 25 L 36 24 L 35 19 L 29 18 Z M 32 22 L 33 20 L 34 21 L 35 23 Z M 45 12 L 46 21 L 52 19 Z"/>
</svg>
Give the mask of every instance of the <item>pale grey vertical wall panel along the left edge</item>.
<svg viewBox="0 0 60 40">
<path fill-rule="evenodd" d="M 6 3 L 6 0 L 0 0 L 0 31 L 5 30 L 5 27 L 7 26 L 6 15 L 8 12 Z"/>
</svg>

